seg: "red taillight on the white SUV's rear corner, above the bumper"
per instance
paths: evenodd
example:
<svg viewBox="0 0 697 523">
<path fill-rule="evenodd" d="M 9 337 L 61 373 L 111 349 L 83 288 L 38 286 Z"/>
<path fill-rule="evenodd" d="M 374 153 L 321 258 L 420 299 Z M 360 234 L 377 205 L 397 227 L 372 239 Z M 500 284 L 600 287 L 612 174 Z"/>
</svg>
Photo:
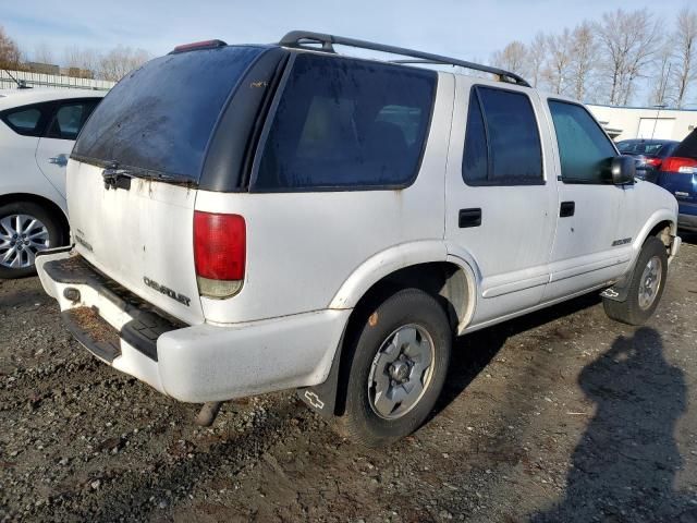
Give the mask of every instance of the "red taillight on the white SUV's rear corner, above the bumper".
<svg viewBox="0 0 697 523">
<path fill-rule="evenodd" d="M 194 211 L 194 262 L 203 296 L 230 297 L 240 292 L 246 255 L 242 216 Z"/>
</svg>

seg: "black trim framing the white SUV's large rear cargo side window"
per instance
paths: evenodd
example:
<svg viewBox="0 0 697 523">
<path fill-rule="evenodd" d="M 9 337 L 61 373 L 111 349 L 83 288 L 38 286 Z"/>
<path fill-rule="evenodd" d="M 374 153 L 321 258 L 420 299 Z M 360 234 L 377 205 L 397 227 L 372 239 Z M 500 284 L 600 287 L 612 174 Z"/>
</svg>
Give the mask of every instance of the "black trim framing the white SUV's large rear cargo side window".
<svg viewBox="0 0 697 523">
<path fill-rule="evenodd" d="M 348 193 L 348 192 L 359 192 L 359 191 L 400 191 L 414 185 L 416 180 L 418 179 L 418 174 L 421 172 L 421 165 L 424 162 L 424 157 L 426 156 L 426 148 L 428 147 L 428 143 L 430 141 L 431 134 L 431 123 L 433 120 L 433 112 L 436 112 L 436 99 L 438 94 L 438 80 L 439 75 L 437 71 L 432 71 L 433 73 L 433 92 L 431 93 L 431 104 L 430 111 L 428 115 L 428 120 L 426 122 L 426 129 L 424 130 L 424 143 L 421 145 L 421 150 L 418 156 L 418 160 L 416 161 L 416 166 L 414 168 L 414 174 L 401 184 L 371 184 L 371 185 L 313 185 L 306 187 L 258 187 L 257 186 L 257 178 L 259 174 L 259 166 L 261 163 L 261 157 L 264 156 L 264 149 L 266 148 L 266 143 L 269 137 L 269 133 L 271 131 L 271 125 L 276 120 L 276 113 L 278 111 L 279 104 L 285 92 L 285 86 L 291 76 L 291 72 L 293 71 L 293 65 L 295 64 L 295 59 L 301 54 L 317 54 L 328 60 L 354 60 L 360 62 L 368 62 L 374 65 L 382 65 L 386 68 L 408 68 L 407 65 L 399 65 L 394 63 L 386 63 L 386 62 L 377 62 L 375 60 L 362 59 L 356 57 L 342 57 L 340 54 L 327 54 L 317 51 L 303 50 L 303 49 L 294 49 L 291 51 L 291 57 L 288 60 L 285 65 L 285 71 L 283 71 L 283 76 L 281 77 L 281 82 L 273 95 L 273 101 L 271 102 L 271 107 L 267 113 L 266 122 L 264 123 L 264 129 L 259 136 L 259 141 L 256 145 L 256 151 L 254 155 L 254 161 L 252 163 L 252 173 L 249 174 L 249 193 L 257 194 L 273 194 L 273 193 Z M 418 68 L 416 68 L 418 69 Z M 419 71 L 425 71 L 424 69 L 419 69 Z"/>
</svg>

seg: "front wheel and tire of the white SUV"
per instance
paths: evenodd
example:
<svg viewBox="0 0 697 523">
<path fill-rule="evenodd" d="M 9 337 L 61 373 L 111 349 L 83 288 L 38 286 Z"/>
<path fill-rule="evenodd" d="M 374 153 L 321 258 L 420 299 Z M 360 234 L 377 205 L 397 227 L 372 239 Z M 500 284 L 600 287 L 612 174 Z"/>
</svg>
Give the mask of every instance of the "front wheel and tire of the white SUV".
<svg viewBox="0 0 697 523">
<path fill-rule="evenodd" d="M 656 263 L 660 264 L 656 267 Z M 653 268 L 649 264 L 653 264 Z M 639 257 L 637 258 L 632 280 L 629 281 L 627 299 L 624 302 L 603 299 L 602 304 L 608 317 L 628 325 L 643 325 L 651 317 L 653 311 L 661 301 L 665 288 L 668 275 L 668 254 L 665 245 L 656 236 L 650 236 L 644 242 Z M 647 278 L 651 278 L 651 284 L 647 285 Z M 656 289 L 647 292 L 658 278 Z"/>
</svg>

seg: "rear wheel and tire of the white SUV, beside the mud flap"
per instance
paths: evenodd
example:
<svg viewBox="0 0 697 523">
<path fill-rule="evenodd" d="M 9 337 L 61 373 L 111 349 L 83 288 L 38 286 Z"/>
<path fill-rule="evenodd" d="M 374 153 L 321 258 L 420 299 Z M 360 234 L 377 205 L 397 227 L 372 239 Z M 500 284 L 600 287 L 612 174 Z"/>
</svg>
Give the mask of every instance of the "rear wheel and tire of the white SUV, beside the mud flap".
<svg viewBox="0 0 697 523">
<path fill-rule="evenodd" d="M 367 447 L 408 436 L 427 418 L 445 380 L 452 344 L 445 312 L 424 291 L 405 289 L 369 308 L 350 335 L 340 381 L 345 409 L 337 429 Z M 379 388 L 387 393 L 378 394 Z"/>
</svg>

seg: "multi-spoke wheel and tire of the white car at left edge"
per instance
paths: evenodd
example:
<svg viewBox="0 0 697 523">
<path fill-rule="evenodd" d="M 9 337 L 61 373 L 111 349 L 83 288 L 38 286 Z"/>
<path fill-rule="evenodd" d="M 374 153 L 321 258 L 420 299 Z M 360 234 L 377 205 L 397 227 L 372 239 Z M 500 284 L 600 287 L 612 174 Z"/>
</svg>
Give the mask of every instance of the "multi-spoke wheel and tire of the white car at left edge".
<svg viewBox="0 0 697 523">
<path fill-rule="evenodd" d="M 19 220 L 19 227 L 17 227 Z M 30 227 L 30 229 L 29 229 Z M 17 247 L 17 233 L 27 234 Z M 22 278 L 36 273 L 37 252 L 58 247 L 65 238 L 53 214 L 34 202 L 13 202 L 0 205 L 0 278 Z M 29 243 L 26 243 L 26 240 Z M 21 242 L 20 242 L 21 243 Z"/>
</svg>

